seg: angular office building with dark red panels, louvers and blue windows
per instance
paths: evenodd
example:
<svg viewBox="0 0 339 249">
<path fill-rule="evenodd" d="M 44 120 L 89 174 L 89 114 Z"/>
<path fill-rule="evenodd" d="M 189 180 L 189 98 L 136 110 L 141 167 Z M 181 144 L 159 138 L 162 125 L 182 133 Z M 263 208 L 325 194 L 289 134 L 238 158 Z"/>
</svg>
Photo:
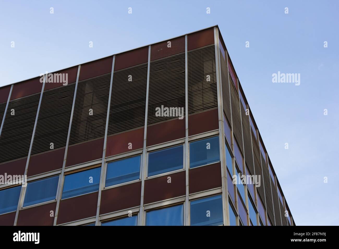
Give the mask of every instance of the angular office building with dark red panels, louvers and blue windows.
<svg viewBox="0 0 339 249">
<path fill-rule="evenodd" d="M 218 26 L 3 86 L 0 115 L 0 225 L 295 225 Z"/>
</svg>

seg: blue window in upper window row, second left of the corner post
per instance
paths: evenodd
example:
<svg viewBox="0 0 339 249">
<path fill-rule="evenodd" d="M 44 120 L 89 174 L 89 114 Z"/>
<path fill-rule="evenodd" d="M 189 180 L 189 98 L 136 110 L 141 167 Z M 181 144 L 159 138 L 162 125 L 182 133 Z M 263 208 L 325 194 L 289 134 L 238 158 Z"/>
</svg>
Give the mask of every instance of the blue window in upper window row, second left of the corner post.
<svg viewBox="0 0 339 249">
<path fill-rule="evenodd" d="M 148 154 L 147 176 L 149 177 L 182 168 L 184 168 L 183 145 L 150 152 Z"/>
</svg>

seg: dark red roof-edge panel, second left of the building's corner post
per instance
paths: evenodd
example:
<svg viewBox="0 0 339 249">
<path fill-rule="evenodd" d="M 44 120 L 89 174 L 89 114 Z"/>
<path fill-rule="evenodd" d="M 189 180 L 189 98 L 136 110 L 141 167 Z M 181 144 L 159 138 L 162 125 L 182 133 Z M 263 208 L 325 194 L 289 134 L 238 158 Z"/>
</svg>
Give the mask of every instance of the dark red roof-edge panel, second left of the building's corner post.
<svg viewBox="0 0 339 249">
<path fill-rule="evenodd" d="M 171 42 L 171 47 L 167 47 L 168 41 Z M 151 61 L 184 52 L 185 52 L 185 36 L 169 39 L 167 41 L 151 45 Z"/>
</svg>

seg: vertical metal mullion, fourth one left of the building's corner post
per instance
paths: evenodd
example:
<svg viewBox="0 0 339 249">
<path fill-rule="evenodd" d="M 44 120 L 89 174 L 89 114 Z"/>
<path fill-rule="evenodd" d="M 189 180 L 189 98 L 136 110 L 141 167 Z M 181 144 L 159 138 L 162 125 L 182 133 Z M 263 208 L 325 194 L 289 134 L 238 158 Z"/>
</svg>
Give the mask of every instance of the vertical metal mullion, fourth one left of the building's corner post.
<svg viewBox="0 0 339 249">
<path fill-rule="evenodd" d="M 78 88 L 79 75 L 80 75 L 80 68 L 81 68 L 81 65 L 78 66 L 78 74 L 77 74 L 77 81 L 75 83 L 74 95 L 73 95 L 71 117 L 69 118 L 68 133 L 67 133 L 67 140 L 66 140 L 66 147 L 65 147 L 65 154 L 64 154 L 64 160 L 63 160 L 63 164 L 62 164 L 62 170 L 61 170 L 61 174 L 60 174 L 58 191 L 57 191 L 58 196 L 57 196 L 57 206 L 55 208 L 55 215 L 54 215 L 54 226 L 57 225 L 57 219 L 58 219 L 58 213 L 59 213 L 59 204 L 60 204 L 60 199 L 61 199 L 61 195 L 62 195 L 62 191 L 61 190 L 62 190 L 62 186 L 63 186 L 63 182 L 64 182 L 64 173 L 65 173 L 65 166 L 66 166 L 66 159 L 67 159 L 69 135 L 71 133 L 71 126 L 72 126 L 72 119 L 73 119 L 73 112 L 74 112 L 74 105 L 75 105 L 75 98 L 77 96 L 77 88 Z"/>
</svg>

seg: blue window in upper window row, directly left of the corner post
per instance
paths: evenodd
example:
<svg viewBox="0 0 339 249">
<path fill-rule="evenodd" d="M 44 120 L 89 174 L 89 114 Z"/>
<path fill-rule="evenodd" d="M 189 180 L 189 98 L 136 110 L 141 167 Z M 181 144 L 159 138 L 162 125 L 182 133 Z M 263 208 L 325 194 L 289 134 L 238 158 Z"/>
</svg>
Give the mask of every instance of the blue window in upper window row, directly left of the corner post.
<svg viewBox="0 0 339 249">
<path fill-rule="evenodd" d="M 219 161 L 219 137 L 190 143 L 190 168 Z"/>
</svg>

